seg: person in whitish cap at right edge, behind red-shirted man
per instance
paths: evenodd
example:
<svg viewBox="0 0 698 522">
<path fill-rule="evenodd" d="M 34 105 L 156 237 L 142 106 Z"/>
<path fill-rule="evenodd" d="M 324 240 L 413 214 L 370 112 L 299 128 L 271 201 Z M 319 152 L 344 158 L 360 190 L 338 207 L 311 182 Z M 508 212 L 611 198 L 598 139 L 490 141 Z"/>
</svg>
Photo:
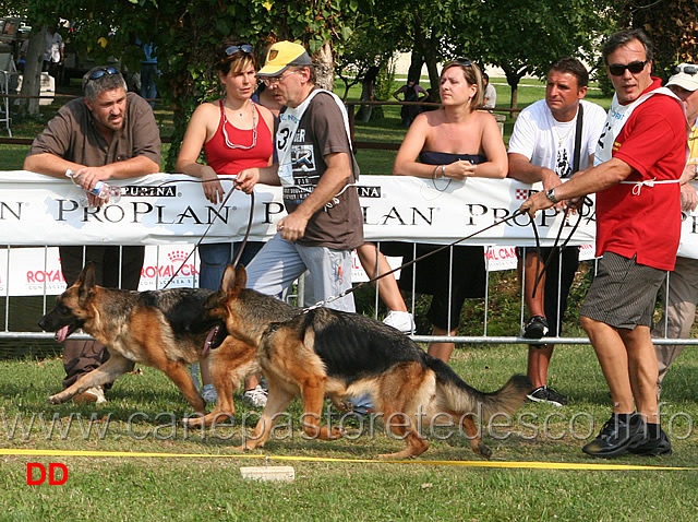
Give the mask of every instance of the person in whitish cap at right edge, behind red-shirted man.
<svg viewBox="0 0 698 522">
<path fill-rule="evenodd" d="M 696 210 L 698 195 L 689 181 L 698 177 L 698 66 L 682 63 L 676 67 L 675 74 L 669 79 L 666 86 L 678 96 L 686 106 L 688 132 L 688 161 L 681 177 L 681 206 L 685 214 Z M 660 289 L 666 296 L 666 317 L 662 317 L 652 329 L 653 337 L 687 339 L 696 318 L 698 302 L 698 259 L 676 257 L 676 268 L 669 274 L 669 295 L 666 284 Z M 659 363 L 657 395 L 661 393 L 662 380 L 670 365 L 678 357 L 684 346 L 654 345 Z"/>
</svg>

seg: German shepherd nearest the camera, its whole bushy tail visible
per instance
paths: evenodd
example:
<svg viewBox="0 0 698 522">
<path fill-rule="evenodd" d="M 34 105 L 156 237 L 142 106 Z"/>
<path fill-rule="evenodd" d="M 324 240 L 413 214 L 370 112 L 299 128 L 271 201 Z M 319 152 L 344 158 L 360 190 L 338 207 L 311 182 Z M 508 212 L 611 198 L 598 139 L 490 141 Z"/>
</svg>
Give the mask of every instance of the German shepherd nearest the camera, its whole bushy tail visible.
<svg viewBox="0 0 698 522">
<path fill-rule="evenodd" d="M 225 320 L 229 335 L 257 346 L 269 387 L 254 435 L 240 450 L 264 446 L 279 414 L 298 395 L 303 401 L 305 434 L 338 439 L 342 436 L 338 427 L 320 425 L 324 396 L 338 404 L 339 399 L 369 393 L 374 413 L 407 443 L 404 451 L 382 456 L 420 455 L 429 444 L 414 425 L 418 417 L 424 424 L 443 422 L 446 415 L 456 426 L 462 425 L 476 453 L 490 456 L 476 417 L 489 422 L 496 413 L 514 413 L 531 389 L 527 377 L 514 376 L 496 392 L 478 391 L 392 327 L 328 308 L 289 310 L 288 305 L 245 288 L 245 283 L 244 268 L 236 272 L 228 266 L 221 288 L 206 304 L 212 317 Z"/>
</svg>

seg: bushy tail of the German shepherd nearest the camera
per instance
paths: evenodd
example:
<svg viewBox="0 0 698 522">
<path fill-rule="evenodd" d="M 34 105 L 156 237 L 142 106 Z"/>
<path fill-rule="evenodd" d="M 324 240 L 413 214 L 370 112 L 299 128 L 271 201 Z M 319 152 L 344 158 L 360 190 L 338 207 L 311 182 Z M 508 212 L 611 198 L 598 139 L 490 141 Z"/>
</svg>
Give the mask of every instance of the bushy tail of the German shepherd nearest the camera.
<svg viewBox="0 0 698 522">
<path fill-rule="evenodd" d="M 526 401 L 531 381 L 515 375 L 495 392 L 481 392 L 467 384 L 443 360 L 430 357 L 428 366 L 436 373 L 436 385 L 443 391 L 443 406 L 459 413 L 473 413 L 483 423 L 496 414 L 514 414 Z"/>
</svg>

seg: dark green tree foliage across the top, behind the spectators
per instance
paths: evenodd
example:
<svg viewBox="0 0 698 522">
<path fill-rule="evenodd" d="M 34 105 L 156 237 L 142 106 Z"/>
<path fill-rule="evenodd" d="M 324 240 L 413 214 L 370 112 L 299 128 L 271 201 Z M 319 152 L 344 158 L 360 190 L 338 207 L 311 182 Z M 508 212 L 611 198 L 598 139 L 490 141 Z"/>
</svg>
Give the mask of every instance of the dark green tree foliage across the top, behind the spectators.
<svg viewBox="0 0 698 522">
<path fill-rule="evenodd" d="M 263 49 L 277 39 L 304 44 L 330 86 L 339 72 L 362 75 L 394 51 L 412 51 L 437 87 L 437 63 L 467 56 L 501 67 L 516 90 L 526 74 L 542 76 L 552 61 L 571 55 L 591 68 L 598 46 L 618 26 L 645 28 L 662 68 L 698 59 L 698 7 L 694 0 L 2 0 L 0 14 L 22 14 L 36 31 L 70 21 L 73 44 L 97 62 L 119 56 L 135 69 L 135 38 L 153 41 L 163 71 L 159 92 L 174 110 L 178 151 L 186 119 L 215 96 L 213 49 L 226 37 Z M 374 71 L 373 71 L 374 72 Z"/>
</svg>

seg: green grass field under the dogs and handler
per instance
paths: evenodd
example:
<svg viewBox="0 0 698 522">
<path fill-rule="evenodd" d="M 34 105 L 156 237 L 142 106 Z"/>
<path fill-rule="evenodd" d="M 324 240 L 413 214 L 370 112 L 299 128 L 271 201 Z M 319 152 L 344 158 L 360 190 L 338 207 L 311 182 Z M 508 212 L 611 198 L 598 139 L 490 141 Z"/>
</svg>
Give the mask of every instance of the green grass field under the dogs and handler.
<svg viewBox="0 0 698 522">
<path fill-rule="evenodd" d="M 470 384 L 493 391 L 512 373 L 525 370 L 526 349 L 458 351 L 452 366 Z M 60 389 L 59 359 L 3 360 L 0 520 L 267 520 L 269 513 L 275 520 L 696 520 L 698 468 L 687 470 L 698 465 L 695 349 L 684 352 L 665 379 L 662 412 L 664 427 L 673 437 L 675 453 L 671 456 L 587 458 L 581 446 L 610 414 L 605 382 L 592 349 L 558 347 L 551 377 L 551 384 L 569 396 L 570 405 L 555 408 L 529 403 L 510 422 L 500 418 L 494 423 L 498 427 L 483 428 L 483 438 L 494 451 L 493 465 L 527 465 L 500 468 L 472 465 L 486 461 L 471 452 L 461 435 L 447 437 L 444 428 L 436 432 L 443 440 L 432 438 L 421 458 L 384 463 L 376 455 L 398 451 L 402 443 L 380 428 L 373 436 L 357 437 L 356 422 L 349 424 L 349 435 L 356 440 L 304 440 L 298 429 L 282 429 L 263 450 L 238 456 L 232 447 L 242 440 L 243 419 L 256 420 L 239 398 L 237 426 L 204 435 L 188 432 L 179 419 L 190 413 L 189 405 L 152 368 L 117 381 L 107 404 L 52 406 L 46 398 Z M 298 419 L 299 402 L 289 411 Z M 29 454 L 1 454 L 3 450 Z M 32 455 L 37 450 L 52 450 L 57 455 Z M 124 454 L 61 456 L 65 450 Z M 347 459 L 370 462 L 342 462 Z M 27 486 L 29 462 L 64 464 L 67 483 Z M 547 470 L 534 463 L 591 468 Z M 241 466 L 265 464 L 293 466 L 296 481 L 241 478 Z M 603 464 L 671 468 L 593 468 Z"/>
</svg>

